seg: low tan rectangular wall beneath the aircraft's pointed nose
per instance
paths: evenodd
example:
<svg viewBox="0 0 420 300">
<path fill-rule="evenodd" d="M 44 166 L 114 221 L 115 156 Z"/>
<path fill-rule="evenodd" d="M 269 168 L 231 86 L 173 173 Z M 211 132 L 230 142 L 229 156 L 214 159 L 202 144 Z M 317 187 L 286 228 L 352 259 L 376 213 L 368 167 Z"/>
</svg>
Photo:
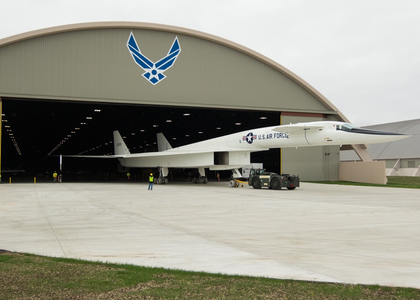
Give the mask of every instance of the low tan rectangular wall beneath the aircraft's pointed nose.
<svg viewBox="0 0 420 300">
<path fill-rule="evenodd" d="M 340 180 L 386 184 L 385 161 L 340 162 Z"/>
</svg>

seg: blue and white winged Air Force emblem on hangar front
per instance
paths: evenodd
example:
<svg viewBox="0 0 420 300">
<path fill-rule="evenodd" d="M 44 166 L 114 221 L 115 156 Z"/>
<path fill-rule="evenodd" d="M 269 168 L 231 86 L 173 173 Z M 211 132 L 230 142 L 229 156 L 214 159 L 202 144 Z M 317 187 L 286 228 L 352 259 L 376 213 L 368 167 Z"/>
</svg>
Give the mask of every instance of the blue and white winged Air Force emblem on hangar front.
<svg viewBox="0 0 420 300">
<path fill-rule="evenodd" d="M 144 71 L 146 71 L 142 75 L 153 85 L 157 84 L 166 77 L 163 72 L 173 66 L 173 63 L 175 63 L 176 58 L 178 57 L 178 54 L 181 52 L 178 37 L 175 37 L 172 46 L 169 49 L 168 55 L 154 63 L 142 54 L 139 46 L 137 45 L 136 39 L 134 38 L 133 32 L 130 33 L 129 39 L 127 41 L 127 48 L 129 48 L 131 56 L 133 56 L 136 64 L 142 67 Z"/>
</svg>

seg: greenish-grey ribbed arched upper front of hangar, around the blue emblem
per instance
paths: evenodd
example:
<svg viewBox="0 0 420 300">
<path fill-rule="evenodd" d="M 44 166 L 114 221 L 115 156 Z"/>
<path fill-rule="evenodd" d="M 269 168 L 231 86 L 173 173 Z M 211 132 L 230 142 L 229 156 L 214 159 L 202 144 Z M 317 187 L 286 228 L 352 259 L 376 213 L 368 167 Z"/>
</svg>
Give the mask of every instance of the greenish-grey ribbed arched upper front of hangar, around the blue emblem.
<svg viewBox="0 0 420 300">
<path fill-rule="evenodd" d="M 142 76 L 127 49 L 130 32 L 150 61 L 164 57 L 178 37 L 181 52 L 165 71 L 168 79 L 154 85 Z M 0 39 L 0 63 L 0 97 L 324 113 L 349 122 L 270 58 L 176 26 L 95 22 L 39 29 Z"/>
</svg>

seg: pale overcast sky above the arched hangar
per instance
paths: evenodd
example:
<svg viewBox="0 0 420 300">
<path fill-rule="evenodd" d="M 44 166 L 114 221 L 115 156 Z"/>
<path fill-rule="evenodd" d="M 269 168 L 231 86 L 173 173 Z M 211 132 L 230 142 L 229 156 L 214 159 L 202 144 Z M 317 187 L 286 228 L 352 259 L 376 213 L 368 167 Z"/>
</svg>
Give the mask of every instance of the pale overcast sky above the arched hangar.
<svg viewBox="0 0 420 300">
<path fill-rule="evenodd" d="M 288 68 L 357 126 L 420 118 L 419 0 L 2 0 L 0 12 L 0 39 L 97 21 L 207 32 Z"/>
</svg>

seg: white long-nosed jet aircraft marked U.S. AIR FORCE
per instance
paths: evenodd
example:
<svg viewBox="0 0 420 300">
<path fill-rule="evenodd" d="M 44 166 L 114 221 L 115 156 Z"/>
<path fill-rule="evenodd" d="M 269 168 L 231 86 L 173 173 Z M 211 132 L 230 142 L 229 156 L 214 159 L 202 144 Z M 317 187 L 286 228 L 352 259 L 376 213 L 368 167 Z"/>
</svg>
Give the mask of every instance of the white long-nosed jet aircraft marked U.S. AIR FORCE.
<svg viewBox="0 0 420 300">
<path fill-rule="evenodd" d="M 159 169 L 158 184 L 168 183 L 168 168 L 198 168 L 197 183 L 207 183 L 205 168 L 232 170 L 250 164 L 250 153 L 281 147 L 371 144 L 392 142 L 411 135 L 363 129 L 338 121 L 316 121 L 246 130 L 173 148 L 162 133 L 157 134 L 158 152 L 131 154 L 120 133 L 114 131 L 115 155 L 77 157 L 118 158 L 122 166 Z"/>
</svg>

